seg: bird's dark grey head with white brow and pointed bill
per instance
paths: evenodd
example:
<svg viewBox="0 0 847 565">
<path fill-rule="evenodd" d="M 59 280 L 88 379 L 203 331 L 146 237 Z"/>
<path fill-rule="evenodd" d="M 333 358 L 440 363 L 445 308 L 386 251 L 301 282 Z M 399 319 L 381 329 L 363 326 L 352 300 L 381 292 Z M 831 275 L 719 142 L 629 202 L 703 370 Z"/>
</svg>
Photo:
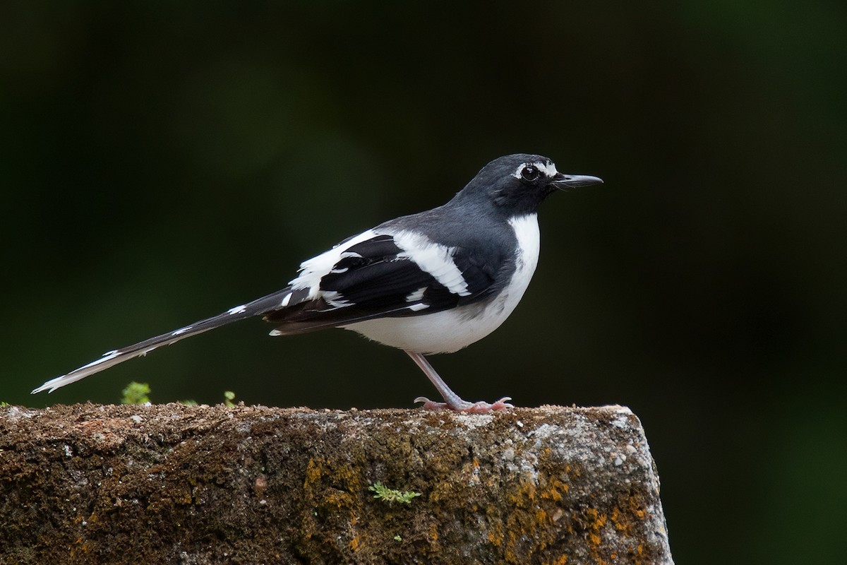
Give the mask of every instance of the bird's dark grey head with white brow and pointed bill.
<svg viewBox="0 0 847 565">
<path fill-rule="evenodd" d="M 587 174 L 562 174 L 550 158 L 516 153 L 496 158 L 485 165 L 457 198 L 487 197 L 508 216 L 534 213 L 556 190 L 601 184 Z"/>
</svg>

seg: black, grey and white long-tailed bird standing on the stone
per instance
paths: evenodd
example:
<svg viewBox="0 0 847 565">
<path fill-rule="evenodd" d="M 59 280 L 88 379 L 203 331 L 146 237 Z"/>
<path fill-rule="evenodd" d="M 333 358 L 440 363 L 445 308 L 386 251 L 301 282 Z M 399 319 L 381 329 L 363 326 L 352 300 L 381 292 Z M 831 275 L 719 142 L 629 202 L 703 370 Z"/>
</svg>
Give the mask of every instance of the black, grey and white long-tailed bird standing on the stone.
<svg viewBox="0 0 847 565">
<path fill-rule="evenodd" d="M 425 356 L 457 352 L 496 330 L 520 302 L 538 264 L 541 202 L 555 191 L 602 182 L 562 174 L 541 155 L 495 158 L 446 204 L 390 219 L 302 262 L 281 291 L 106 352 L 32 393 L 53 392 L 158 347 L 261 316 L 275 324 L 274 336 L 343 328 L 401 349 L 442 398 L 418 396 L 414 402 L 425 409 L 512 408 L 510 396 L 496 402 L 462 400 Z"/>
</svg>

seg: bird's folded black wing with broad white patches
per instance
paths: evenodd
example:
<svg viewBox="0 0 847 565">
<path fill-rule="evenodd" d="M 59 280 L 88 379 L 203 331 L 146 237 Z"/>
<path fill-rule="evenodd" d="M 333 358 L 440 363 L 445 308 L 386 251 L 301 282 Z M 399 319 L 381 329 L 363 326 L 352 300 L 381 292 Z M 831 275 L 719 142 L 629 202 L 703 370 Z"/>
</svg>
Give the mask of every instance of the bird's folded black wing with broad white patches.
<svg viewBox="0 0 847 565">
<path fill-rule="evenodd" d="M 264 319 L 280 324 L 274 335 L 291 335 L 440 312 L 487 296 L 506 263 L 413 232 L 368 230 L 303 263 L 291 299 Z"/>
</svg>

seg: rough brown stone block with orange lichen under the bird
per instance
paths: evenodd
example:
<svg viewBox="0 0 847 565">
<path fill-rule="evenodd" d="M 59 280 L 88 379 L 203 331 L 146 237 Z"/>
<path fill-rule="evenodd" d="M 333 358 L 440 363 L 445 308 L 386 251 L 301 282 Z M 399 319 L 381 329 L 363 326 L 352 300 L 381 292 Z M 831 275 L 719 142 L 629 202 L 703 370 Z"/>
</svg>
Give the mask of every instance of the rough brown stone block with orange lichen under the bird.
<svg viewBox="0 0 847 565">
<path fill-rule="evenodd" d="M 625 407 L 3 407 L 0 450 L 3 563 L 672 562 Z"/>
</svg>

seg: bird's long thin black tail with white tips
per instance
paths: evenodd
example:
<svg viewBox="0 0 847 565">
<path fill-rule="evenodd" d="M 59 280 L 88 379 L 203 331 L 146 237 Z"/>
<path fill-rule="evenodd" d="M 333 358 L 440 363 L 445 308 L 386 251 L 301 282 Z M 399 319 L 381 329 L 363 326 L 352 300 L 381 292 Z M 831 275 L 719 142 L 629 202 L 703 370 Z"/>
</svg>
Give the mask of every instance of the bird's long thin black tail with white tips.
<svg viewBox="0 0 847 565">
<path fill-rule="evenodd" d="M 169 346 L 170 344 L 184 340 L 186 337 L 190 337 L 191 335 L 202 334 L 204 331 L 213 330 L 214 328 L 219 328 L 222 325 L 231 324 L 238 320 L 271 312 L 280 308 L 282 300 L 289 294 L 291 294 L 291 287 L 274 292 L 274 294 L 269 294 L 268 296 L 263 296 L 253 302 L 248 302 L 241 306 L 230 308 L 222 314 L 200 320 L 194 324 L 186 325 L 184 328 L 174 330 L 168 334 L 157 335 L 156 337 L 151 337 L 149 340 L 136 343 L 133 346 L 103 353 L 103 356 L 99 359 L 92 361 L 87 365 L 83 365 L 82 367 L 71 371 L 69 374 L 63 374 L 60 377 L 48 380 L 35 391 L 32 391 L 32 394 L 42 391 L 53 392 L 59 387 L 69 385 L 70 383 L 74 383 L 80 379 L 85 379 L 90 374 L 99 373 L 103 369 L 113 367 L 118 363 L 124 363 L 126 360 L 132 359 L 133 357 L 147 355 L 147 353 L 152 352 L 152 350 L 158 347 Z"/>
</svg>

